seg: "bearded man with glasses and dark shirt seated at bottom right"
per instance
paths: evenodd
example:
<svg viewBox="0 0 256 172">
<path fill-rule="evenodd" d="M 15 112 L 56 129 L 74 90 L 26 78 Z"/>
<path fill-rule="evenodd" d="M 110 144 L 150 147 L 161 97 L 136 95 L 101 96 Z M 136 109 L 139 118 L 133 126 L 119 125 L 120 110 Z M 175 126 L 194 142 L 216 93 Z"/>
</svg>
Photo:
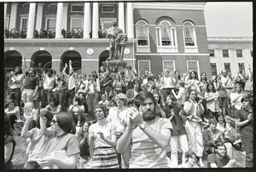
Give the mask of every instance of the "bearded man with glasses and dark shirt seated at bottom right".
<svg viewBox="0 0 256 172">
<path fill-rule="evenodd" d="M 215 146 L 215 153 L 208 155 L 208 168 L 230 168 L 236 164 L 235 159 L 230 159 L 227 155 L 226 146 L 223 143 L 218 143 Z"/>
</svg>

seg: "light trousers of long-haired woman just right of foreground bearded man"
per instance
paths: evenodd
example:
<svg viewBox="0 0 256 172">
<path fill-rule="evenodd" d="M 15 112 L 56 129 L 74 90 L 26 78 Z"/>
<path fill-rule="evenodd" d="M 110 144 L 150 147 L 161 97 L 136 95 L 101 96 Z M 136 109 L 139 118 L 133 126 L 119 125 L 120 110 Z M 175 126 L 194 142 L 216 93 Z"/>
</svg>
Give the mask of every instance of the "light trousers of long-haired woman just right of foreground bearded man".
<svg viewBox="0 0 256 172">
<path fill-rule="evenodd" d="M 180 144 L 183 150 L 183 163 L 186 161 L 186 152 L 189 152 L 188 138 L 187 135 L 172 135 L 171 137 L 171 168 L 177 168 L 177 145 Z"/>
</svg>

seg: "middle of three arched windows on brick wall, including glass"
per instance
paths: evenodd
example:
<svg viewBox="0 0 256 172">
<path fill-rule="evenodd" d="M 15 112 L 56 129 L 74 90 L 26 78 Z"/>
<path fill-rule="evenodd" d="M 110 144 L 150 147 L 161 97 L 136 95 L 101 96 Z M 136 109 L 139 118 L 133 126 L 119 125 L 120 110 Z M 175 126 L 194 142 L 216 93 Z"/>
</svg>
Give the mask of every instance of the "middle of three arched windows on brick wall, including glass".
<svg viewBox="0 0 256 172">
<path fill-rule="evenodd" d="M 171 26 L 171 23 L 163 20 L 160 26 L 156 26 L 157 45 L 159 47 L 177 47 L 176 27 Z"/>
</svg>

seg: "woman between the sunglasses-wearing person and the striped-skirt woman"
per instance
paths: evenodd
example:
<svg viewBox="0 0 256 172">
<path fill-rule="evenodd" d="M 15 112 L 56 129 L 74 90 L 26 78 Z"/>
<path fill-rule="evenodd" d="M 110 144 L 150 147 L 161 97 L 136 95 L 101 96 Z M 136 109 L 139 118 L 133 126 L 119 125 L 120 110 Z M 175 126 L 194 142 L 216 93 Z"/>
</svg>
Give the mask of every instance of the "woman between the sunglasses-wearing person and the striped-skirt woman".
<svg viewBox="0 0 256 172">
<path fill-rule="evenodd" d="M 79 149 L 80 149 L 80 157 L 88 160 L 90 158 L 90 151 L 89 151 L 89 127 L 91 123 L 84 123 L 84 125 L 77 129 L 76 136 L 79 139 Z"/>
</svg>

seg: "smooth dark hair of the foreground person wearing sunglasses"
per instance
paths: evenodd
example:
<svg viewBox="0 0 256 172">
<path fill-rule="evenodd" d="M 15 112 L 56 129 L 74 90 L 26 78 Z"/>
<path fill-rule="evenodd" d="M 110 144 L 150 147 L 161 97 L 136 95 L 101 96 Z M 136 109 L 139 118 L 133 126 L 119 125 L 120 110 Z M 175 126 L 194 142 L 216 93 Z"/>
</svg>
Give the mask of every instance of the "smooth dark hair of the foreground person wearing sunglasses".
<svg viewBox="0 0 256 172">
<path fill-rule="evenodd" d="M 73 116 L 69 112 L 59 112 L 55 113 L 56 121 L 58 122 L 59 127 L 65 132 L 65 133 L 76 133 L 76 126 L 73 122 Z"/>
</svg>

